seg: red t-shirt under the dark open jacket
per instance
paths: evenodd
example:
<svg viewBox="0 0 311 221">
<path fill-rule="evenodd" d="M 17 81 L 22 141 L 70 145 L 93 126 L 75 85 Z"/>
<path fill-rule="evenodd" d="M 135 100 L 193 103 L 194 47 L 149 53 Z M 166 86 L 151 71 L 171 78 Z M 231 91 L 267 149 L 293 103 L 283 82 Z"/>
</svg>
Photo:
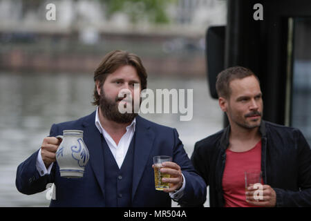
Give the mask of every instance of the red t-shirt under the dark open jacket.
<svg viewBox="0 0 311 221">
<path fill-rule="evenodd" d="M 245 200 L 246 170 L 261 171 L 261 141 L 245 152 L 226 150 L 226 164 L 223 171 L 223 193 L 225 207 L 253 207 Z"/>
</svg>

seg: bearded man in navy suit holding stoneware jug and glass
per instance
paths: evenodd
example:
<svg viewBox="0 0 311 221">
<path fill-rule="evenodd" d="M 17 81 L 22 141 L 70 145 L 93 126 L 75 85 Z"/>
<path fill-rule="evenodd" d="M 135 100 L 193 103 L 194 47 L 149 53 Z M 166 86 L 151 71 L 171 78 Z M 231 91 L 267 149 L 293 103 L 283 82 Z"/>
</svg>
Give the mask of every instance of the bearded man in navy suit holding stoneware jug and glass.
<svg viewBox="0 0 311 221">
<path fill-rule="evenodd" d="M 96 110 L 72 122 L 53 124 L 41 148 L 17 168 L 16 186 L 21 193 L 44 191 L 54 183 L 56 194 L 50 206 L 181 206 L 205 202 L 206 185 L 187 156 L 176 129 L 140 117 L 135 100 L 147 88 L 147 73 L 137 55 L 109 52 L 95 70 Z M 126 96 L 120 96 L 126 90 Z M 134 101 L 134 102 L 133 102 Z M 139 103 L 139 102 L 138 102 Z M 133 105 L 126 113 L 120 106 Z M 139 104 L 138 104 L 139 105 Z M 55 153 L 64 130 L 84 131 L 90 159 L 79 179 L 59 175 Z M 169 183 L 164 191 L 155 189 L 153 156 L 173 160 L 162 164 L 162 178 Z"/>
</svg>

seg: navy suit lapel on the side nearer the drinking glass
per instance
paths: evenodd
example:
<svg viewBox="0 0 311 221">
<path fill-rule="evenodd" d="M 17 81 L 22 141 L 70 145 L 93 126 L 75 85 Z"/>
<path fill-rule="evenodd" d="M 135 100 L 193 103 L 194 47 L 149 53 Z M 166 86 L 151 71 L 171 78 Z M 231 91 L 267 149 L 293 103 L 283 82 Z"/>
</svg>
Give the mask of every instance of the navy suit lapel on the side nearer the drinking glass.
<svg viewBox="0 0 311 221">
<path fill-rule="evenodd" d="M 138 189 L 142 173 L 144 172 L 145 166 L 149 159 L 154 137 L 153 132 L 150 130 L 150 126 L 144 122 L 142 117 L 137 116 L 135 126 L 132 200 Z"/>
</svg>

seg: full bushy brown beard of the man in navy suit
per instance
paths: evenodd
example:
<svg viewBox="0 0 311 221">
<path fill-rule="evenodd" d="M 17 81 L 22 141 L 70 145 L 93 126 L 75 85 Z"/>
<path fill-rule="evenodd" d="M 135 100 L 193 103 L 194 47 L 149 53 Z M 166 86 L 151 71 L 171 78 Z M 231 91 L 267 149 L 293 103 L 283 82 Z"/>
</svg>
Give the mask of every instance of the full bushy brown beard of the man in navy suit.
<svg viewBox="0 0 311 221">
<path fill-rule="evenodd" d="M 100 110 L 102 111 L 102 115 L 113 122 L 119 124 L 128 124 L 133 122 L 133 119 L 138 115 L 138 113 L 120 113 L 119 104 L 117 101 L 120 101 L 120 97 L 115 97 L 115 99 L 109 99 L 105 96 L 104 90 L 101 89 L 100 92 Z M 133 105 L 132 105 L 133 107 Z"/>
</svg>

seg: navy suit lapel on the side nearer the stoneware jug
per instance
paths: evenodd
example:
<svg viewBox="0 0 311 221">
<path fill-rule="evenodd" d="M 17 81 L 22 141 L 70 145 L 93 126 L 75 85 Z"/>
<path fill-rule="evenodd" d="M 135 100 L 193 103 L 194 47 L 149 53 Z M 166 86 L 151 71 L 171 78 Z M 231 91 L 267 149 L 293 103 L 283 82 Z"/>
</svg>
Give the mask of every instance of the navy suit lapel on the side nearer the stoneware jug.
<svg viewBox="0 0 311 221">
<path fill-rule="evenodd" d="M 87 117 L 83 123 L 84 129 L 84 142 L 90 153 L 91 167 L 95 173 L 97 182 L 100 184 L 102 194 L 104 195 L 104 155 L 102 150 L 101 133 L 95 126 L 95 113 Z"/>
</svg>

